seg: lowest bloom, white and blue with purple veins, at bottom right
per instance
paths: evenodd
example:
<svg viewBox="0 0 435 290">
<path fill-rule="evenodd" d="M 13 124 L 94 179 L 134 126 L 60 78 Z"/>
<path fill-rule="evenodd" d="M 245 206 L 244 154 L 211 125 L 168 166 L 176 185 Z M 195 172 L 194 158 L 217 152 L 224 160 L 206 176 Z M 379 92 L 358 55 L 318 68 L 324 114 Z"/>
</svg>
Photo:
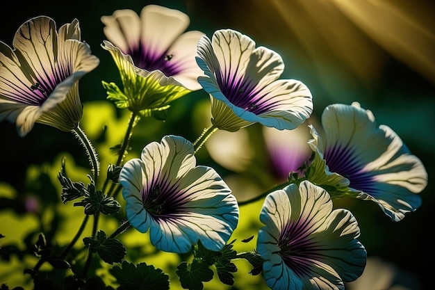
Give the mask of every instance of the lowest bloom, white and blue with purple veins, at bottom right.
<svg viewBox="0 0 435 290">
<path fill-rule="evenodd" d="M 344 290 L 343 282 L 363 273 L 367 252 L 356 219 L 332 207 L 327 191 L 308 181 L 265 198 L 257 250 L 270 288 Z"/>
</svg>

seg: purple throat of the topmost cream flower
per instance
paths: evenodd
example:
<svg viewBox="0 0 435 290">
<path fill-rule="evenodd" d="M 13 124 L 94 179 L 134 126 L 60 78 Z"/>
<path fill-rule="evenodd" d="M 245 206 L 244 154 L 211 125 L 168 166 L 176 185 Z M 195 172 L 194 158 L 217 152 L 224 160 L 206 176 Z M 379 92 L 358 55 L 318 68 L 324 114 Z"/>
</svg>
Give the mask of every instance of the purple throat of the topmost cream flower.
<svg viewBox="0 0 435 290">
<path fill-rule="evenodd" d="M 139 45 L 138 48 L 131 48 L 129 51 L 126 51 L 126 54 L 131 56 L 133 63 L 137 67 L 149 72 L 160 70 L 168 77 L 181 72 L 180 63 L 172 61 L 174 56 L 167 54 L 166 51 L 164 54 L 151 53 L 145 49 L 145 45 Z"/>
</svg>

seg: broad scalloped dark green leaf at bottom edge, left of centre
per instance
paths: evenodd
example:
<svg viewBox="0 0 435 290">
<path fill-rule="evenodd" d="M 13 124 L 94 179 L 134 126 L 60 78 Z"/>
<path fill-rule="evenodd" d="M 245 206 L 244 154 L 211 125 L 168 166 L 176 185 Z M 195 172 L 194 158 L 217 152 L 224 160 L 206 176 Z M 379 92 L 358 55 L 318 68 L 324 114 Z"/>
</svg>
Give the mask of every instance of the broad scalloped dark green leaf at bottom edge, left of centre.
<svg viewBox="0 0 435 290">
<path fill-rule="evenodd" d="M 122 262 L 122 268 L 114 266 L 109 272 L 117 279 L 120 287 L 117 290 L 167 290 L 169 275 L 159 268 L 139 263 L 136 267 L 128 261 Z"/>
</svg>

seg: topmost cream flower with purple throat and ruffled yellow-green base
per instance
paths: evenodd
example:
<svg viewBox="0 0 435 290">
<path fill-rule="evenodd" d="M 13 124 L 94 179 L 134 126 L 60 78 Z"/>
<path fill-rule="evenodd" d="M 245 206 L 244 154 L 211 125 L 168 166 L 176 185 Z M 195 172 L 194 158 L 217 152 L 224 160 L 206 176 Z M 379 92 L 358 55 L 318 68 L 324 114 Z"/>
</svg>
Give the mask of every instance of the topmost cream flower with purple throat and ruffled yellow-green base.
<svg viewBox="0 0 435 290">
<path fill-rule="evenodd" d="M 184 32 L 188 15 L 163 6 L 148 5 L 139 15 L 130 9 L 101 17 L 109 41 L 102 47 L 120 70 L 124 92 L 111 84 L 108 98 L 131 111 L 163 110 L 174 99 L 201 86 L 195 62 L 200 31 Z M 184 33 L 183 33 L 184 32 Z M 106 85 L 107 86 L 107 85 Z"/>
</svg>

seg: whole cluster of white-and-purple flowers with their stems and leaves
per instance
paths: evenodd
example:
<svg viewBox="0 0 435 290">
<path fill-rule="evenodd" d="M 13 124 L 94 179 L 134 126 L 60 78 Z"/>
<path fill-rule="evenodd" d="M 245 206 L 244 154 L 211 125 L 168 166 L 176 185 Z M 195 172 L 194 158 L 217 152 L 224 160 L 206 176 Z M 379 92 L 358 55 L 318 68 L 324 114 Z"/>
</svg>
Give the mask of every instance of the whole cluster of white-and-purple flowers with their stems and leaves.
<svg viewBox="0 0 435 290">
<path fill-rule="evenodd" d="M 250 274 L 262 277 L 270 289 L 345 289 L 345 283 L 363 273 L 367 252 L 358 240 L 355 216 L 349 209 L 333 209 L 333 202 L 344 197 L 371 200 L 394 221 L 420 207 L 418 193 L 427 186 L 427 172 L 400 137 L 386 125 L 377 126 L 372 112 L 358 102 L 327 106 L 322 128 L 316 129 L 309 122 L 311 91 L 301 81 L 280 79 L 284 61 L 276 51 L 256 46 L 233 29 L 217 30 L 211 38 L 201 31 L 185 32 L 188 15 L 156 5 L 145 6 L 140 15 L 116 10 L 101 22 L 107 38 L 101 47 L 113 57 L 122 81 L 121 87 L 106 81 L 102 86 L 109 101 L 131 113 L 124 139 L 115 147 L 117 160 L 110 162 L 103 183 L 97 150 L 80 126 L 79 97 L 79 80 L 99 65 L 99 58 L 81 41 L 78 20 L 57 31 L 53 19 L 34 17 L 18 29 L 13 48 L 0 42 L 0 120 L 15 123 L 20 136 L 35 123 L 72 131 L 92 172 L 88 186 L 74 182 L 63 160 L 56 175 L 60 197 L 64 204 L 75 200 L 74 207 L 84 207 L 85 216 L 71 243 L 60 246 L 60 254 L 56 241 L 48 243 L 44 232 L 39 235 L 38 262 L 25 271 L 35 287 L 54 283 L 54 277 L 42 275 L 47 262 L 54 268 L 51 275 L 59 268 L 71 271 L 60 282 L 68 289 L 96 280 L 110 289 L 169 289 L 169 276 L 147 257 L 135 259 L 128 239 L 122 239 L 134 231 L 144 242 L 149 239 L 155 252 L 179 257 L 176 273 L 184 289 L 202 289 L 213 278 L 211 266 L 221 283 L 232 285 L 236 259 L 246 259 Z M 147 117 L 167 119 L 174 100 L 197 90 L 210 99 L 211 125 L 204 125 L 193 142 L 165 135 L 129 158 L 135 152 L 130 141 L 136 124 Z M 236 134 L 253 124 L 265 130 L 280 183 L 238 200 L 218 170 L 197 165 L 196 154 L 216 131 Z M 301 128 L 311 137 L 296 145 L 294 137 L 276 137 Z M 257 200 L 263 202 L 256 215 L 261 227 L 242 241 L 253 239 L 256 249 L 238 252 L 233 246 L 240 209 Z M 76 247 L 90 216 L 92 235 Z M 98 223 L 105 216 L 119 223 L 110 236 Z M 0 234 L 7 238 L 10 233 Z M 92 268 L 95 257 L 116 265 Z M 104 269 L 115 280 L 99 277 Z"/>
</svg>

